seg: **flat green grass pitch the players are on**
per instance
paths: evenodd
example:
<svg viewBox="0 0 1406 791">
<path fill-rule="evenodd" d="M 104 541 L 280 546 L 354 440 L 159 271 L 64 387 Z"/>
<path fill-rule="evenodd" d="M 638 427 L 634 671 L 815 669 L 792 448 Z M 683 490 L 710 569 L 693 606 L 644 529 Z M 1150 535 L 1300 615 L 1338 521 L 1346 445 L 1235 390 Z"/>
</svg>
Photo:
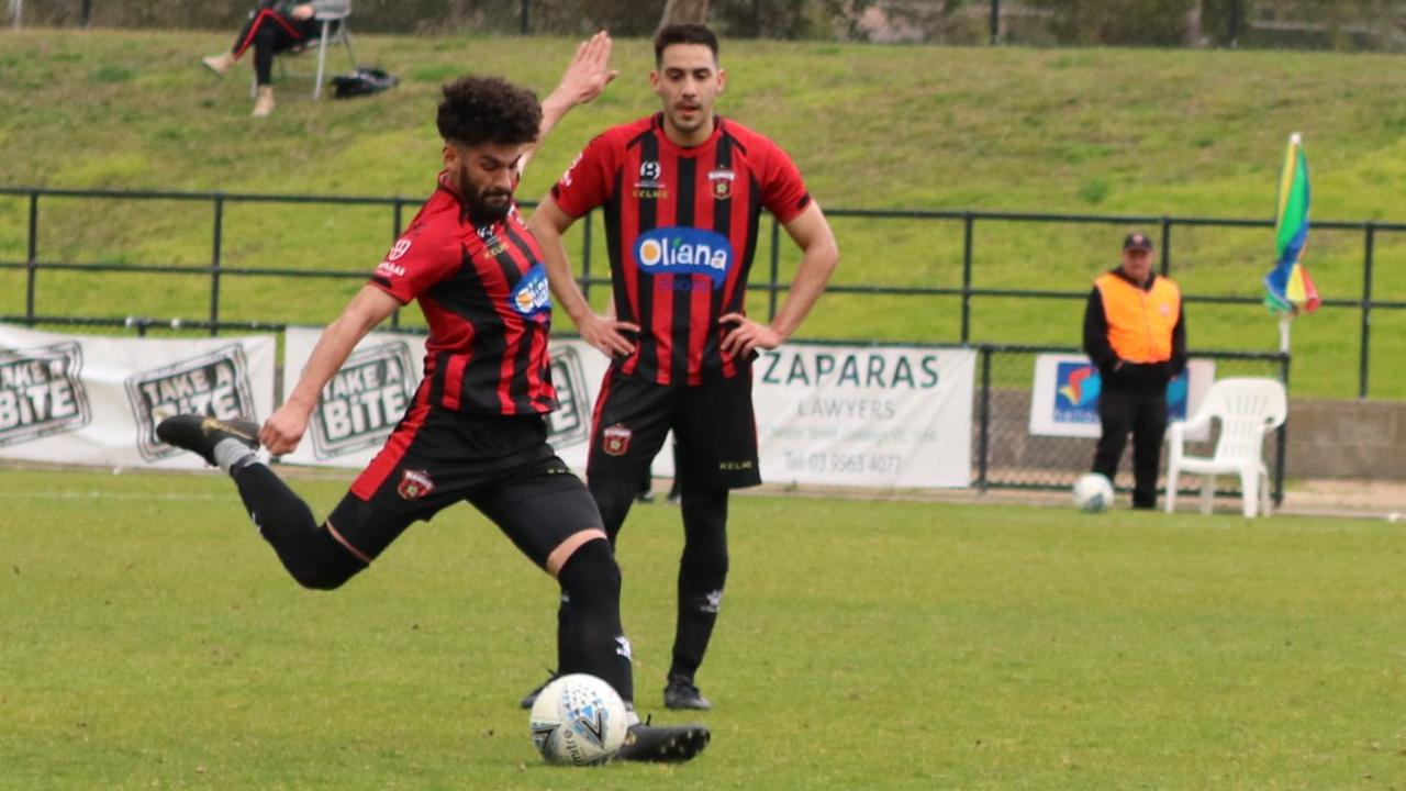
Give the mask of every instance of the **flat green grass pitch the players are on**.
<svg viewBox="0 0 1406 791">
<path fill-rule="evenodd" d="M 621 539 L 644 712 L 676 519 Z M 711 747 L 596 770 L 534 759 L 554 586 L 495 533 L 314 594 L 218 474 L 0 472 L 0 788 L 1406 787 L 1384 522 L 738 497 Z"/>
</svg>

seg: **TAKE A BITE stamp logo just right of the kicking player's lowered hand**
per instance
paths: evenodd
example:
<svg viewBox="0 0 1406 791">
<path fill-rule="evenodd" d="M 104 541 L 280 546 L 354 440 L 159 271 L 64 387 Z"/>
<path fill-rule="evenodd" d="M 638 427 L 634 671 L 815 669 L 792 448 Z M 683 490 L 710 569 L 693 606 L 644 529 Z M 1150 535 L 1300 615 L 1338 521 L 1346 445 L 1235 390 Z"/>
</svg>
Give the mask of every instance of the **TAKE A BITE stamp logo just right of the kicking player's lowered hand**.
<svg viewBox="0 0 1406 791">
<path fill-rule="evenodd" d="M 405 341 L 359 349 L 318 397 L 312 453 L 335 459 L 385 442 L 415 394 L 413 357 Z"/>
</svg>

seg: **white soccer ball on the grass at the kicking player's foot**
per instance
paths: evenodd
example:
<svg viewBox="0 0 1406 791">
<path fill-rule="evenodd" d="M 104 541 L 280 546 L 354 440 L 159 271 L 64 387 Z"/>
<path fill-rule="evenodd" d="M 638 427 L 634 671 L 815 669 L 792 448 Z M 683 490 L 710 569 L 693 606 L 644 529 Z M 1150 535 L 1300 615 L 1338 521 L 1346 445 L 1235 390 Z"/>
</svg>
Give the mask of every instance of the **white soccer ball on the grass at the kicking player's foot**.
<svg viewBox="0 0 1406 791">
<path fill-rule="evenodd" d="M 626 708 L 614 687 L 595 676 L 554 678 L 531 707 L 531 740 L 547 763 L 585 766 L 609 760 L 624 743 Z"/>
</svg>

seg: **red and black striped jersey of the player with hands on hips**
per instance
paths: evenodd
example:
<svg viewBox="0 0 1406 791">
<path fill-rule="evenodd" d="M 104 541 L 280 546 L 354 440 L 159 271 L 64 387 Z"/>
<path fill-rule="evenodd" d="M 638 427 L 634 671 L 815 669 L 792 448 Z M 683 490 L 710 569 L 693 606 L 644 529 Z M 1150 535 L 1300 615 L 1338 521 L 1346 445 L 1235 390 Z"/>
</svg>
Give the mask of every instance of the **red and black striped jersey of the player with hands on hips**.
<svg viewBox="0 0 1406 791">
<path fill-rule="evenodd" d="M 605 207 L 616 315 L 640 325 L 614 365 L 659 384 L 738 373 L 718 317 L 745 310 L 761 211 L 789 222 L 810 204 L 770 139 L 716 118 L 707 142 L 682 148 L 662 113 L 591 141 L 551 194 L 571 217 Z"/>
</svg>

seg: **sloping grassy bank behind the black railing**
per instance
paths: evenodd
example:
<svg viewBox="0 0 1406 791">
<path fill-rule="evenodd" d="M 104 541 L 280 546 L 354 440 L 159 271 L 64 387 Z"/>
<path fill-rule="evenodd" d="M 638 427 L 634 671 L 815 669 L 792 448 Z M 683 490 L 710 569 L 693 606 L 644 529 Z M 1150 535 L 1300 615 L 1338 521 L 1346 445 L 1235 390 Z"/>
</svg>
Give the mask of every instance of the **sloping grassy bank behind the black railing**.
<svg viewBox="0 0 1406 791">
<path fill-rule="evenodd" d="M 0 31 L 7 152 L 0 184 L 418 201 L 439 163 L 432 124 L 439 84 L 479 70 L 546 91 L 574 44 L 360 35 L 361 61 L 399 75 L 399 87 L 314 104 L 312 63 L 304 58 L 291 66 L 302 77 L 280 87 L 278 111 L 254 124 L 245 69 L 217 82 L 197 65 L 228 39 L 226 32 Z M 1313 167 L 1315 218 L 1406 218 L 1396 55 L 735 41 L 724 44 L 723 59 L 730 83 L 720 110 L 792 151 L 831 208 L 1270 218 L 1284 142 L 1298 129 Z M 647 44 L 620 41 L 616 63 L 621 77 L 598 104 L 567 118 L 529 170 L 522 197 L 540 197 L 596 131 L 655 108 Z M 332 65 L 344 66 L 340 52 Z M 45 260 L 209 263 L 208 204 L 46 198 L 41 214 Z M 226 266 L 364 272 L 391 235 L 382 208 L 232 204 L 225 221 Z M 25 200 L 0 197 L 0 259 L 24 259 L 25 227 Z M 839 218 L 835 228 L 837 283 L 962 283 L 959 222 Z M 1123 231 L 981 222 L 973 284 L 1083 290 L 1115 262 Z M 783 279 L 794 266 L 789 248 Z M 1271 249 L 1268 229 L 1182 228 L 1173 273 L 1192 296 L 1258 297 Z M 1375 252 L 1375 297 L 1406 300 L 1406 238 L 1384 232 Z M 1315 231 L 1309 267 L 1324 296 L 1358 298 L 1361 234 Z M 41 273 L 38 311 L 208 315 L 208 277 L 100 277 Z M 225 277 L 221 315 L 321 324 L 357 286 Z M 0 270 L 0 314 L 22 314 L 24 296 L 22 272 Z M 762 304 L 754 298 L 754 312 Z M 1067 301 L 979 298 L 972 339 L 1077 345 L 1080 310 Z M 959 311 L 955 298 L 830 296 L 803 334 L 956 341 Z M 1192 348 L 1278 345 L 1275 322 L 1258 305 L 1202 304 L 1188 315 Z M 1378 311 L 1372 322 L 1371 396 L 1406 397 L 1406 369 L 1392 365 L 1406 353 L 1406 314 Z M 1296 322 L 1295 396 L 1357 396 L 1358 328 L 1350 308 Z"/>
</svg>

